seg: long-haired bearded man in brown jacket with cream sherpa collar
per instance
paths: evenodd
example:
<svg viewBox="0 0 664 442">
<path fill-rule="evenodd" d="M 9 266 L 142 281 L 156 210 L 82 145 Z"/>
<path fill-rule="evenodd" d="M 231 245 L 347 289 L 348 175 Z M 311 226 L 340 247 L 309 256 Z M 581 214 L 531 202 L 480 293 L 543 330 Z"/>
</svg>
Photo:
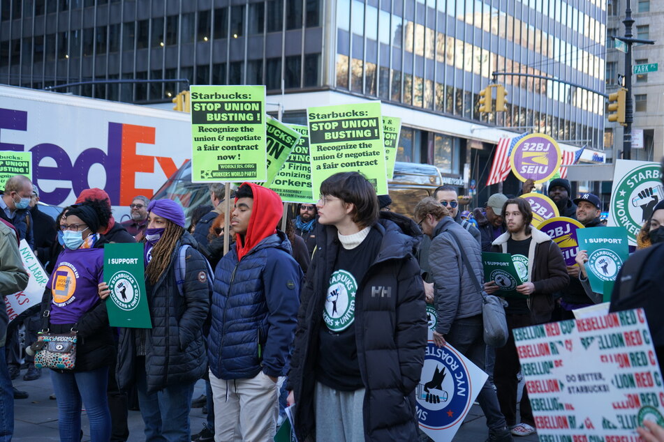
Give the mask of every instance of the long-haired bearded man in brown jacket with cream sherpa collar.
<svg viewBox="0 0 664 442">
<path fill-rule="evenodd" d="M 530 225 L 533 211 L 528 201 L 508 199 L 502 213 L 508 231 L 492 243 L 491 251 L 512 255 L 521 284 L 516 287 L 520 296 L 507 298 L 505 313 L 510 337 L 505 346 L 496 349 L 494 382 L 501 412 L 507 425 L 512 427 L 512 434 L 528 436 L 535 432 L 535 419 L 525 388 L 520 407 L 521 423 L 517 424 L 516 420 L 520 365 L 512 330 L 548 322 L 554 308 L 553 294 L 566 287 L 570 277 L 558 245 L 543 231 Z M 488 294 L 498 289 L 494 281 L 485 283 Z"/>
</svg>

